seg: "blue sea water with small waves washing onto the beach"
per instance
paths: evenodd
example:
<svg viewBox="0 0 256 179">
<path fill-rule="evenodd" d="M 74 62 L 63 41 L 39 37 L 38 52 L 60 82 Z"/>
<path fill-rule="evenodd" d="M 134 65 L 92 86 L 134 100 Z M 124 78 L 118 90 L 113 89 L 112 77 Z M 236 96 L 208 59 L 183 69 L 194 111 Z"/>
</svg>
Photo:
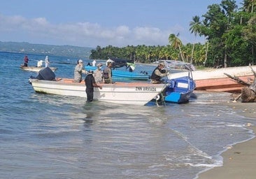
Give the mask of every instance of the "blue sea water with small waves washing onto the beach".
<svg viewBox="0 0 256 179">
<path fill-rule="evenodd" d="M 78 59 L 48 56 L 57 77 L 73 78 Z M 36 66 L 45 55 L 28 57 Z M 0 52 L 1 178 L 191 179 L 254 137 L 246 124 L 255 120 L 226 105 L 230 94 L 195 92 L 189 103 L 159 107 L 86 103 L 36 94 L 29 76 L 37 74 L 20 69 L 23 58 Z"/>
</svg>

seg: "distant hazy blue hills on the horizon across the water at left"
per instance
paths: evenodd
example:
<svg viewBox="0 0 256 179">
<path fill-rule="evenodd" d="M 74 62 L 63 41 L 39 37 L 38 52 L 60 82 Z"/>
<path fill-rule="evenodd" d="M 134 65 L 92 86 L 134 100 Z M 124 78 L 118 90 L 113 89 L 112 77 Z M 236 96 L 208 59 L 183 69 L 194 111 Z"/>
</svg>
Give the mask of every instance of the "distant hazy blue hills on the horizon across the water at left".
<svg viewBox="0 0 256 179">
<path fill-rule="evenodd" d="M 0 52 L 16 52 L 23 54 L 52 55 L 59 57 L 89 58 L 91 50 L 95 48 L 85 48 L 72 45 L 44 45 L 27 42 L 1 42 Z"/>
</svg>

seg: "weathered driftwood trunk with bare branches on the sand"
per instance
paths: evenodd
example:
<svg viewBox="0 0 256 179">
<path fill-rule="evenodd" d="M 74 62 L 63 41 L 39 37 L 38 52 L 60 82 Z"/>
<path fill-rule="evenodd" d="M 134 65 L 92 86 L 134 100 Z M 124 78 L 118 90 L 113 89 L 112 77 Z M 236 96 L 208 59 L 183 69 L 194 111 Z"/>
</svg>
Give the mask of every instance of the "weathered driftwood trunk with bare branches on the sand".
<svg viewBox="0 0 256 179">
<path fill-rule="evenodd" d="M 236 100 L 238 100 L 240 97 L 241 97 L 242 103 L 256 102 L 256 72 L 253 70 L 251 66 L 250 66 L 250 69 L 253 71 L 253 75 L 254 75 L 254 80 L 252 83 L 243 81 L 236 76 L 230 76 L 229 74 L 224 73 L 229 78 L 236 80 L 237 83 L 240 83 L 241 85 L 246 86 L 242 88 L 241 94 L 239 94 L 239 96 L 236 96 L 233 102 L 236 102 Z"/>
</svg>

